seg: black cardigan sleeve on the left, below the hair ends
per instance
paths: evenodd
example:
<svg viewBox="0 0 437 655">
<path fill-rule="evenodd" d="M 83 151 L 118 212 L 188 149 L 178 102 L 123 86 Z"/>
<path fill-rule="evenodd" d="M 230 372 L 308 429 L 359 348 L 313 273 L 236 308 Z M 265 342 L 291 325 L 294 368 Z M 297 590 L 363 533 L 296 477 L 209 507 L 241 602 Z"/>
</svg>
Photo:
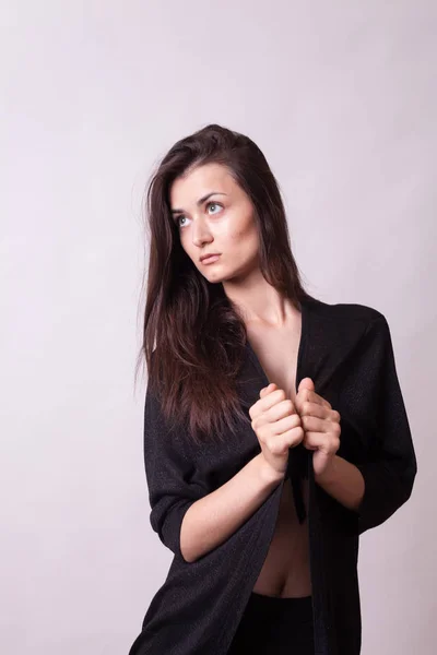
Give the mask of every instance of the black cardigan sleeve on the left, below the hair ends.
<svg viewBox="0 0 437 655">
<path fill-rule="evenodd" d="M 169 550 L 184 559 L 180 550 L 184 515 L 205 495 L 205 489 L 192 479 L 193 462 L 186 430 L 170 429 L 150 384 L 144 405 L 144 464 L 152 528 Z"/>
</svg>

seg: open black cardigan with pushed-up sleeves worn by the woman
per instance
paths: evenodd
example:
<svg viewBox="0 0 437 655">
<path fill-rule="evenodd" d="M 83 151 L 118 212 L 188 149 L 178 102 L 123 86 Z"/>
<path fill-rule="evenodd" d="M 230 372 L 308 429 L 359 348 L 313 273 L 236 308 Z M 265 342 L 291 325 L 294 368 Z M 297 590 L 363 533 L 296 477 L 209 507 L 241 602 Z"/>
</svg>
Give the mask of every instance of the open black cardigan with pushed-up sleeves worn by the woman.
<svg viewBox="0 0 437 655">
<path fill-rule="evenodd" d="M 308 529 L 316 655 L 358 655 L 362 620 L 357 579 L 359 535 L 391 516 L 411 496 L 417 464 L 398 381 L 389 325 L 378 310 L 356 303 L 329 305 L 308 297 L 297 358 L 300 380 L 341 415 L 338 455 L 365 479 L 358 512 L 315 483 L 311 451 L 290 450 L 299 517 L 299 481 L 309 478 Z M 241 403 L 259 398 L 268 378 L 246 344 L 240 370 Z M 250 425 L 225 444 L 197 446 L 187 433 L 167 429 L 158 398 L 146 392 L 144 456 L 150 521 L 174 552 L 167 576 L 145 614 L 130 655 L 225 655 L 261 571 L 275 527 L 284 480 L 223 544 L 186 562 L 179 535 L 188 508 L 226 483 L 261 452 Z M 296 483 L 296 472 L 300 478 Z"/>
</svg>

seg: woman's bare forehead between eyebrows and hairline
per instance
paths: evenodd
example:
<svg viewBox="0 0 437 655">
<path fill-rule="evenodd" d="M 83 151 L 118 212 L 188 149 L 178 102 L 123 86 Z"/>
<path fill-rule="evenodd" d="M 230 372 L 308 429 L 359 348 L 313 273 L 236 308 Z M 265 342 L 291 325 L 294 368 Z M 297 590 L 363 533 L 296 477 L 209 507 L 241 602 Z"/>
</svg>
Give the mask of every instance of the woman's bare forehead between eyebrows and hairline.
<svg viewBox="0 0 437 655">
<path fill-rule="evenodd" d="M 221 164 L 204 164 L 191 170 L 188 175 L 174 180 L 169 196 L 172 205 L 196 203 L 202 195 L 211 191 L 232 193 L 236 182 L 229 170 Z"/>
</svg>

